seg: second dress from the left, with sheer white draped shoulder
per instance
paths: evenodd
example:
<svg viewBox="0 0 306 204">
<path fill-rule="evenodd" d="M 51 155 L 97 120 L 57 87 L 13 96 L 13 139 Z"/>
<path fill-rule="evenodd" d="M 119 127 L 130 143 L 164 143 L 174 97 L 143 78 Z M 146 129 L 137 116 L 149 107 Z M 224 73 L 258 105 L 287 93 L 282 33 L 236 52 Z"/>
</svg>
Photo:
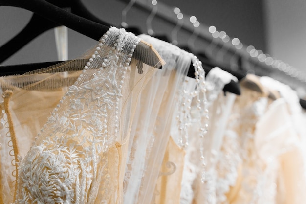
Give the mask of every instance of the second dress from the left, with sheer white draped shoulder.
<svg viewBox="0 0 306 204">
<path fill-rule="evenodd" d="M 156 72 L 140 96 L 140 106 L 144 110 L 136 114 L 138 120 L 134 120 L 131 131 L 133 141 L 129 145 L 125 204 L 178 203 L 184 150 L 176 138 L 171 137 L 171 132 L 173 128 L 179 129 L 174 120 L 180 113 L 182 96 L 186 94 L 184 83 L 194 80 L 186 75 L 191 61 L 197 62 L 192 54 L 175 45 L 148 35 L 139 37 L 151 43 L 166 64 Z M 198 69 L 204 74 L 201 67 Z M 191 90 L 194 91 L 195 86 Z"/>
</svg>

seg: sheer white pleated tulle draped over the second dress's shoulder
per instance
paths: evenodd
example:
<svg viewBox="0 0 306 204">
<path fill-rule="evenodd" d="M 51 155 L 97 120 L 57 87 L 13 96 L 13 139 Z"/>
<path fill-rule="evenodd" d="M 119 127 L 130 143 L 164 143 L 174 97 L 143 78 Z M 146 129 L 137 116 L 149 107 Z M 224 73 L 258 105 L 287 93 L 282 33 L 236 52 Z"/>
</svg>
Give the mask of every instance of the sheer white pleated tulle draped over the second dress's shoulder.
<svg viewBox="0 0 306 204">
<path fill-rule="evenodd" d="M 175 99 L 191 62 L 191 56 L 174 45 L 147 35 L 139 37 L 154 46 L 166 65 L 155 73 L 140 95 L 129 145 L 125 204 L 155 201 L 155 184 L 170 137 Z"/>
</svg>

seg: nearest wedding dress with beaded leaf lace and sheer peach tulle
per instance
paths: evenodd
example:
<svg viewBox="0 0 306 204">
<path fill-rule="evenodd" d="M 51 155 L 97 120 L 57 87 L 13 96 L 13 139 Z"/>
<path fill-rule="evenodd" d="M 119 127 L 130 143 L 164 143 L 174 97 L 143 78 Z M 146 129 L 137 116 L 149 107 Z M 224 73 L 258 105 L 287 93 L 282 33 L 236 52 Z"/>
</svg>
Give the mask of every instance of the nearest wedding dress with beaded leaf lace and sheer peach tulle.
<svg viewBox="0 0 306 204">
<path fill-rule="evenodd" d="M 16 191 L 13 196 L 6 193 L 7 189 L 5 195 L 1 191 L 2 203 L 12 200 L 15 204 L 123 203 L 125 160 L 138 95 L 156 68 L 163 64 L 160 60 L 153 68 L 131 58 L 139 42 L 139 38 L 123 29 L 109 29 L 95 49 L 88 52 L 91 57 L 84 70 L 77 72 L 79 76 L 74 85 L 63 95 L 61 91 L 57 92 L 55 95 L 59 97 L 48 103 L 53 106 L 53 111 L 24 159 L 18 154 L 23 135 L 15 134 L 16 120 L 10 114 L 15 102 L 10 104 L 9 100 L 15 93 L 14 90 L 4 91 L 4 108 L 5 103 L 7 106 L 2 111 L 1 122 L 8 121 L 4 128 L 9 134 L 1 136 L 0 179 L 1 184 L 7 184 L 1 188 Z M 45 72 L 61 70 L 62 66 L 11 76 L 10 79 L 16 81 L 27 76 L 35 79 L 47 75 L 43 80 L 33 80 L 34 86 L 41 83 L 40 88 L 44 88 L 44 82 L 54 75 Z M 18 85 L 22 86 L 22 83 Z M 43 110 L 50 109 L 48 105 L 42 107 Z M 43 122 L 36 122 L 40 123 Z M 30 132 L 35 135 L 35 131 Z M 12 140 L 13 145 L 3 142 L 6 140 Z M 18 167 L 14 173 L 17 179 L 15 190 L 12 190 L 14 183 L 6 180 L 5 176 L 9 174 L 3 168 L 12 160 L 8 155 L 16 159 Z"/>
</svg>

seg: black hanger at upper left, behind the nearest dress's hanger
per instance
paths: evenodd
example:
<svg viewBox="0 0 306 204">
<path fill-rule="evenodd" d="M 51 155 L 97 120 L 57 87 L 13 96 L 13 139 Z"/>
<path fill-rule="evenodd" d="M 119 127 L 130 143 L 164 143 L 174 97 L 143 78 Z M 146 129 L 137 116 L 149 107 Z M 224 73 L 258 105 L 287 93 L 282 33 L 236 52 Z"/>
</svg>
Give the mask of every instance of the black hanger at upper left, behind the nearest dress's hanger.
<svg viewBox="0 0 306 204">
<path fill-rule="evenodd" d="M 52 3 L 57 7 L 64 8 L 65 10 L 88 20 L 110 26 L 108 23 L 91 14 L 80 0 L 47 0 L 47 2 Z M 60 25 L 61 24 L 54 23 L 34 13 L 29 23 L 22 29 L 22 31 L 0 47 L 0 63 L 12 56 L 40 34 Z"/>
</svg>

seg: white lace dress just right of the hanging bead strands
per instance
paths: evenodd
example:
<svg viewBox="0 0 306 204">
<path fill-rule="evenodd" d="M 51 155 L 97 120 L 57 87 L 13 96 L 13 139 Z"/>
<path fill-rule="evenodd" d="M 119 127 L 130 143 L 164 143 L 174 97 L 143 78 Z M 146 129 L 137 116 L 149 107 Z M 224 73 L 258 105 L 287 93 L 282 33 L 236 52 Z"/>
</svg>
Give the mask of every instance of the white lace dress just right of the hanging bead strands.
<svg viewBox="0 0 306 204">
<path fill-rule="evenodd" d="M 187 149 L 185 159 L 184 175 L 181 190 L 181 204 L 203 203 L 216 204 L 217 193 L 221 194 L 218 185 L 217 161 L 219 160 L 219 151 L 223 143 L 223 136 L 228 117 L 231 113 L 231 107 L 235 101 L 235 94 L 227 93 L 224 95 L 222 89 L 224 85 L 231 80 L 237 81 L 232 76 L 220 68 L 213 68 L 206 76 L 207 89 L 207 108 L 209 110 L 208 132 L 204 136 L 203 147 L 204 157 L 201 158 L 199 149 L 199 135 L 202 126 L 202 120 L 198 121 L 200 116 L 205 117 L 204 113 L 197 111 L 192 107 L 192 125 L 189 129 L 190 146 Z M 204 159 L 206 165 L 199 164 L 200 159 Z M 205 174 L 201 181 L 201 170 L 204 168 Z"/>
</svg>

